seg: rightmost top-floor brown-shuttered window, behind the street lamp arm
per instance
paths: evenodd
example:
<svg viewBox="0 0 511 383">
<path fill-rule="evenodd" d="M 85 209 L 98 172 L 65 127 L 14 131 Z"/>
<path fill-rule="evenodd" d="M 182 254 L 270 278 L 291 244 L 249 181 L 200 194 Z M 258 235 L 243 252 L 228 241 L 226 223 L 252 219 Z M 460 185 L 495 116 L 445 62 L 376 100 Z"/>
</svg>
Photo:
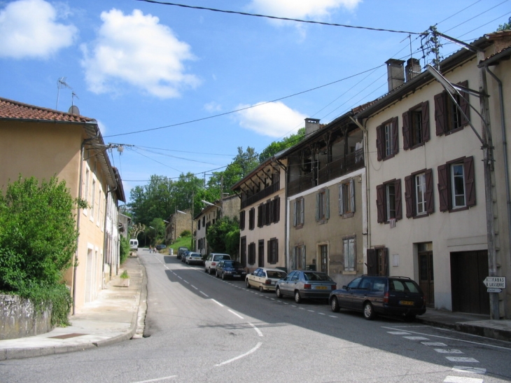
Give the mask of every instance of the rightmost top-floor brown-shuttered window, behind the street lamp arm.
<svg viewBox="0 0 511 383">
<path fill-rule="evenodd" d="M 458 85 L 467 88 L 468 81 L 463 81 L 463 83 L 459 83 Z M 457 132 L 468 124 L 468 118 L 470 118 L 468 93 L 460 93 L 461 97 L 459 95 L 455 95 L 454 99 L 456 99 L 456 103 L 461 107 L 461 110 L 467 118 L 463 116 L 463 113 L 461 113 L 456 104 L 454 104 L 451 97 L 447 95 L 447 92 L 444 91 L 435 95 L 435 124 L 437 136 Z"/>
</svg>

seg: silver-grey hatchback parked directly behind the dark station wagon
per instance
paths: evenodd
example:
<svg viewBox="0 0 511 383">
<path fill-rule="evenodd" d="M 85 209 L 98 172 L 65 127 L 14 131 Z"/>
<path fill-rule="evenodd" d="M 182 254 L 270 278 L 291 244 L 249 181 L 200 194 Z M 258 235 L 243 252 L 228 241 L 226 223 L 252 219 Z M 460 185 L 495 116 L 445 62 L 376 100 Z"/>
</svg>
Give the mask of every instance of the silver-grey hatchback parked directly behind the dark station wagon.
<svg viewBox="0 0 511 383">
<path fill-rule="evenodd" d="M 300 303 L 304 298 L 328 299 L 337 288 L 335 281 L 325 272 L 312 270 L 295 270 L 276 282 L 277 298 L 289 295 Z"/>
</svg>

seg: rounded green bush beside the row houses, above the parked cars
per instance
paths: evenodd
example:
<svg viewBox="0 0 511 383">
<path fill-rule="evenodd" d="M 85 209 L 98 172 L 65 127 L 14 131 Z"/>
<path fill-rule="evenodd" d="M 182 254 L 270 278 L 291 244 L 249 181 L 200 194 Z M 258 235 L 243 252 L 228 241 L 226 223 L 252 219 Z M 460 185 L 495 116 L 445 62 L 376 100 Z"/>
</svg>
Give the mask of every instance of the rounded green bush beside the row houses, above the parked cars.
<svg viewBox="0 0 511 383">
<path fill-rule="evenodd" d="M 237 218 L 222 217 L 218 219 L 214 225 L 209 226 L 206 238 L 211 252 L 227 253 L 228 251 L 235 251 L 237 253 L 239 247 L 239 222 Z"/>
</svg>

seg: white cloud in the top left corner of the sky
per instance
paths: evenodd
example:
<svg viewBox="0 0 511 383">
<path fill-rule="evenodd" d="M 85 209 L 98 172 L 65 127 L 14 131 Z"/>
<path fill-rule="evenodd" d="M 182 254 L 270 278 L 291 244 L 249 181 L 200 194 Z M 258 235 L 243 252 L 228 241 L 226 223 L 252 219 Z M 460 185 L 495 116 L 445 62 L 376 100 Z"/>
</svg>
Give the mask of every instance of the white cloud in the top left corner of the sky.
<svg viewBox="0 0 511 383">
<path fill-rule="evenodd" d="M 78 29 L 56 21 L 65 16 L 43 0 L 9 3 L 0 11 L 0 57 L 45 59 L 71 46 Z"/>
</svg>

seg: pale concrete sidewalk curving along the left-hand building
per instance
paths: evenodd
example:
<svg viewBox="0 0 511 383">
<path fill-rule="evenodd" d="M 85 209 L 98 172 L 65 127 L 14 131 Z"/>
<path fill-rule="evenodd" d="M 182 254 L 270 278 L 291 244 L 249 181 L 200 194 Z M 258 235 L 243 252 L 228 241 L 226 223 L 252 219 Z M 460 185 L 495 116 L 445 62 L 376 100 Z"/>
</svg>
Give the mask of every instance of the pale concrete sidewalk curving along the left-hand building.
<svg viewBox="0 0 511 383">
<path fill-rule="evenodd" d="M 128 258 L 122 269 L 130 275 L 129 287 L 121 287 L 120 278 L 114 277 L 94 302 L 85 304 L 70 317 L 71 326 L 31 337 L 0 340 L 0 360 L 94 349 L 141 337 L 146 312 L 146 271 L 137 257 Z M 141 325 L 137 326 L 139 319 Z"/>
</svg>

